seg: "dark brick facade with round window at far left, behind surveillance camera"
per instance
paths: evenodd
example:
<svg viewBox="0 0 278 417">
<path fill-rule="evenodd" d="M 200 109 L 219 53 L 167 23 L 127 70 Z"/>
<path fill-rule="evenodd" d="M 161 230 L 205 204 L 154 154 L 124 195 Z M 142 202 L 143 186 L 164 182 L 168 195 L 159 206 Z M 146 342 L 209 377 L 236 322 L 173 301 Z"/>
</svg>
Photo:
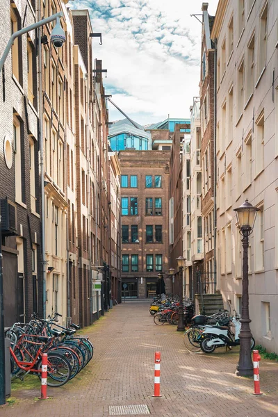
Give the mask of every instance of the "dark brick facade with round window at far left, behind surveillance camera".
<svg viewBox="0 0 278 417">
<path fill-rule="evenodd" d="M 14 33 L 35 22 L 35 7 L 1 3 L 0 55 Z M 0 87 L 1 250 L 5 326 L 42 313 L 40 175 L 35 33 L 17 38 Z"/>
</svg>

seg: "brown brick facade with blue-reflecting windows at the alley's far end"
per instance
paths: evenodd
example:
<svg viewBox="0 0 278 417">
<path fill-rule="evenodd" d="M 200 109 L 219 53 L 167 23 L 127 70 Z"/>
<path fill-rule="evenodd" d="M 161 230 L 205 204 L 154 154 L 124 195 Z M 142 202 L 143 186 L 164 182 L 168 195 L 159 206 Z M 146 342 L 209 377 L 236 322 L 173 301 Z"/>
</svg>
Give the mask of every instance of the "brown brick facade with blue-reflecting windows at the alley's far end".
<svg viewBox="0 0 278 417">
<path fill-rule="evenodd" d="M 119 159 L 122 297 L 152 297 L 164 290 L 164 284 L 166 293 L 171 293 L 167 275 L 170 152 L 122 151 Z"/>
</svg>

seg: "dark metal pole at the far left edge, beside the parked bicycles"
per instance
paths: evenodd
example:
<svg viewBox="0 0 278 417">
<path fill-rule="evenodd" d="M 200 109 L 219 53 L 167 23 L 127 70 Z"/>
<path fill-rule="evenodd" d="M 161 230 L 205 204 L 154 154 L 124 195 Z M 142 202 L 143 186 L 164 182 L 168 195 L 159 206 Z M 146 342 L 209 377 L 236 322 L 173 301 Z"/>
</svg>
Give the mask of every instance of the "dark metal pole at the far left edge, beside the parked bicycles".
<svg viewBox="0 0 278 417">
<path fill-rule="evenodd" d="M 5 373 L 5 333 L 4 333 L 4 297 L 2 274 L 2 231 L 0 215 L 0 405 L 6 403 L 6 373 Z"/>
</svg>

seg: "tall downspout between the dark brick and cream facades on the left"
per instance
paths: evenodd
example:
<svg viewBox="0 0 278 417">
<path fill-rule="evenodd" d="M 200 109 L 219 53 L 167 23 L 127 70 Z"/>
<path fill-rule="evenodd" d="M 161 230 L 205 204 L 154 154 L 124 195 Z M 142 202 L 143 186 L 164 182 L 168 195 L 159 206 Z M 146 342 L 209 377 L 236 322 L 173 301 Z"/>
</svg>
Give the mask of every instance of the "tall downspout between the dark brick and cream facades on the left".
<svg viewBox="0 0 278 417">
<path fill-rule="evenodd" d="M 41 19 L 41 1 L 38 1 L 38 20 Z M 42 224 L 42 317 L 47 312 L 47 273 L 45 259 L 45 218 L 44 218 L 44 143 L 43 143 L 43 108 L 42 108 L 42 26 L 38 28 L 38 80 L 39 80 L 39 126 L 40 126 L 40 190 L 41 190 L 41 224 Z"/>
</svg>

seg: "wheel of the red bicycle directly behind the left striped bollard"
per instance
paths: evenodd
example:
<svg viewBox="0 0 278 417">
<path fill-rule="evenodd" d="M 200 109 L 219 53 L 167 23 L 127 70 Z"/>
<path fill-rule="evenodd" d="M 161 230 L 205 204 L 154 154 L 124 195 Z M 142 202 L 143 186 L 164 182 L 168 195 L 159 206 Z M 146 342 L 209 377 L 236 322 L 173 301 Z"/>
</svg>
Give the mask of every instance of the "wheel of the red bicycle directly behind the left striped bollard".
<svg viewBox="0 0 278 417">
<path fill-rule="evenodd" d="M 42 367 L 42 361 L 38 362 L 38 369 Z M 42 374 L 39 373 L 42 379 Z M 70 363 L 63 355 L 56 352 L 47 354 L 47 385 L 62 386 L 70 379 Z"/>
</svg>

